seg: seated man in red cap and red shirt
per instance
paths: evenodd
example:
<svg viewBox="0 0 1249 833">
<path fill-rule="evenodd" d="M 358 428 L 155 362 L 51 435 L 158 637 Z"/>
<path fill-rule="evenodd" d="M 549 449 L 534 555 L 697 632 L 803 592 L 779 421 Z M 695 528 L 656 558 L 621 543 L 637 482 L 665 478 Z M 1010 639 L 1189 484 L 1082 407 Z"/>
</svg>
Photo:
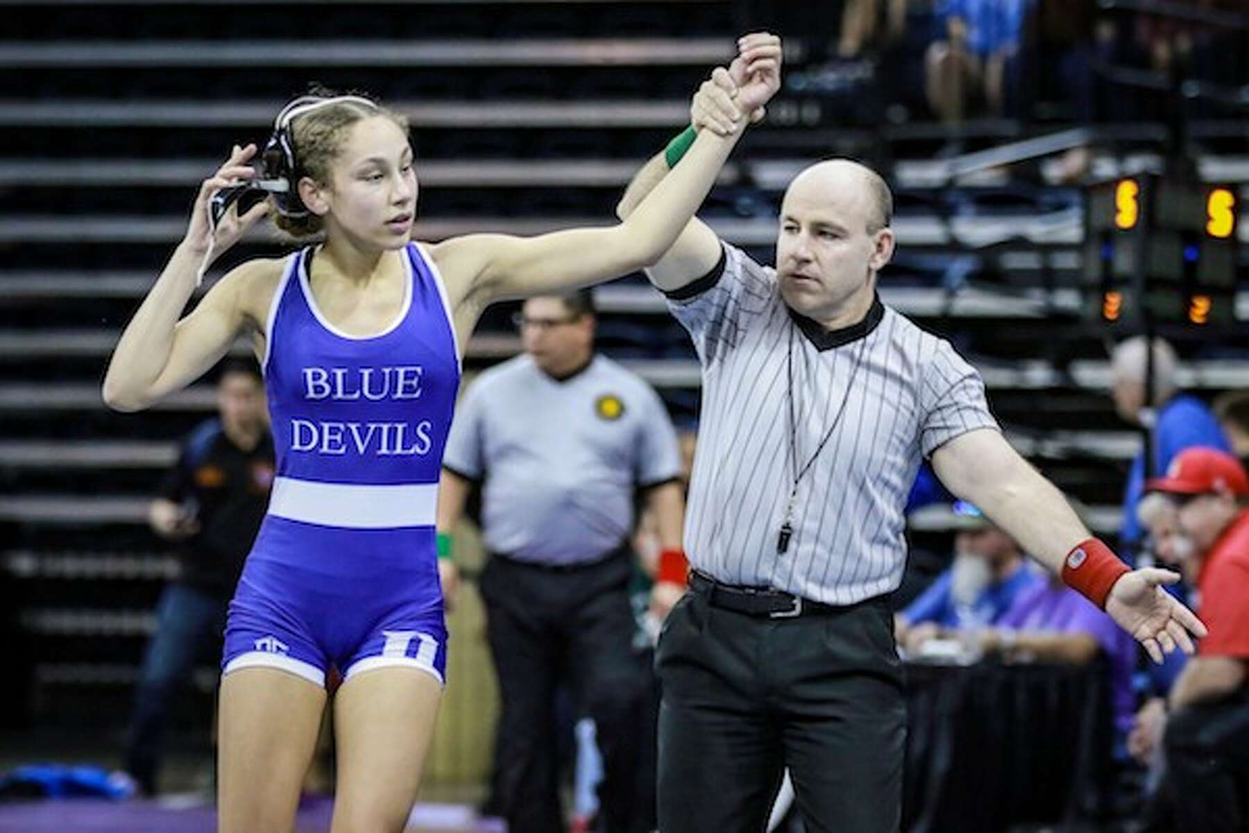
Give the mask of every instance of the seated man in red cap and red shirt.
<svg viewBox="0 0 1249 833">
<path fill-rule="evenodd" d="M 1165 708 L 1138 718 L 1132 749 L 1165 767 L 1148 829 L 1233 833 L 1249 824 L 1249 476 L 1230 455 L 1188 448 L 1150 491 L 1175 503 L 1180 561 L 1209 634 Z M 1188 550 L 1188 552 L 1184 552 Z"/>
</svg>

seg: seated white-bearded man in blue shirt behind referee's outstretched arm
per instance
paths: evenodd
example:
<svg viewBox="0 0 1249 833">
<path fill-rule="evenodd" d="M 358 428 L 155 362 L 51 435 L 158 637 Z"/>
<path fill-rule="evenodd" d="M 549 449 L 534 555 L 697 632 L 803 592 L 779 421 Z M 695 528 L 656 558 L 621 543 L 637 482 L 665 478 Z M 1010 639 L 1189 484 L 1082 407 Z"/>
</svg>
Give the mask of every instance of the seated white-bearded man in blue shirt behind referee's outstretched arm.
<svg viewBox="0 0 1249 833">
<path fill-rule="evenodd" d="M 896 617 L 898 641 L 911 652 L 945 631 L 995 623 L 1023 589 L 1042 577 L 1014 538 L 970 503 L 957 501 L 954 563 Z"/>
</svg>

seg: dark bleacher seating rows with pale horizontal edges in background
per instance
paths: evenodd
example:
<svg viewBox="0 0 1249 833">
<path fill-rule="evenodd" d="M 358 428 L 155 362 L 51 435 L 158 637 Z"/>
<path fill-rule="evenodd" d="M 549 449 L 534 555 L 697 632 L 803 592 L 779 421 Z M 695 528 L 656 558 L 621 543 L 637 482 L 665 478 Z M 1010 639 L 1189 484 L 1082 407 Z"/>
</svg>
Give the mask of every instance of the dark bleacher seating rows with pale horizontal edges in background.
<svg viewBox="0 0 1249 833">
<path fill-rule="evenodd" d="M 311 80 L 361 87 L 412 120 L 422 239 L 608 222 L 633 170 L 687 117 L 707 67 L 731 55 L 734 34 L 726 0 L 9 9 L 0 35 L 0 528 L 11 536 L 0 569 L 22 587 L 40 714 L 94 714 L 109 703 L 111 719 L 124 714 L 172 564 L 144 525 L 146 498 L 177 440 L 211 412 L 212 395 L 199 385 L 121 416 L 104 407 L 99 385 L 120 328 L 182 234 L 195 184 L 232 142 L 262 141 L 280 104 Z M 1012 440 L 1113 532 L 1137 438 L 1107 396 L 1104 333 L 1078 316 L 1079 192 L 1042 187 L 1040 175 L 947 185 L 931 159 L 942 129 L 838 130 L 822 122 L 821 106 L 818 96 L 783 95 L 704 216 L 771 260 L 776 205 L 794 171 L 834 152 L 897 160 L 902 249 L 882 295 L 977 361 Z M 1249 131 L 1235 124 L 1197 125 L 1193 135 L 1208 137 L 1203 171 L 1249 181 Z M 975 122 L 965 132 L 975 147 L 1050 129 Z M 1124 130 L 1100 170 L 1134 164 L 1150 135 Z M 210 281 L 276 251 L 254 235 Z M 633 276 L 600 288 L 598 300 L 603 347 L 691 422 L 697 367 L 658 295 Z M 471 368 L 518 350 L 510 313 L 486 316 Z M 1239 315 L 1249 320 L 1245 298 Z M 1200 393 L 1249 387 L 1244 362 L 1195 340 L 1179 346 Z M 933 535 L 944 523 L 936 512 L 916 526 Z"/>
</svg>

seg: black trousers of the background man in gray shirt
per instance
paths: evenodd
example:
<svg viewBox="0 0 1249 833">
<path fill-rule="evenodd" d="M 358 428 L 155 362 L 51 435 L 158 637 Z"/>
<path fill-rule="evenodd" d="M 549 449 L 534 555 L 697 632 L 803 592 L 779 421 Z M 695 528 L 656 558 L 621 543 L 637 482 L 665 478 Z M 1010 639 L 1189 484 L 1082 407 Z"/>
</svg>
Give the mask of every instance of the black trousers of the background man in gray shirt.
<svg viewBox="0 0 1249 833">
<path fill-rule="evenodd" d="M 620 551 L 595 564 L 552 569 L 500 556 L 481 577 L 502 716 L 496 789 L 512 833 L 563 833 L 556 761 L 556 689 L 568 682 L 593 718 L 603 756 L 601 811 L 610 833 L 646 829 L 637 768 L 642 658 L 633 651 L 632 561 Z"/>
</svg>

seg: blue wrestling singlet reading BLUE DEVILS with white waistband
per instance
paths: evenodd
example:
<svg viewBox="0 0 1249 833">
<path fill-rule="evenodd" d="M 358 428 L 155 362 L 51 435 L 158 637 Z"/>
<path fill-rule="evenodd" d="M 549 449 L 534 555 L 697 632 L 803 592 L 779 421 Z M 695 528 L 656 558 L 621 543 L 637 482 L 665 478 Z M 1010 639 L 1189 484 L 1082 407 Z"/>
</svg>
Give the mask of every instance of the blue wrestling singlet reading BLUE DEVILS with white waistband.
<svg viewBox="0 0 1249 833">
<path fill-rule="evenodd" d="M 317 684 L 383 666 L 443 681 L 435 547 L 438 473 L 460 361 L 442 278 L 403 251 L 407 292 L 375 336 L 333 327 L 296 252 L 266 326 L 277 476 L 230 602 L 222 673 L 262 666 Z"/>
</svg>

